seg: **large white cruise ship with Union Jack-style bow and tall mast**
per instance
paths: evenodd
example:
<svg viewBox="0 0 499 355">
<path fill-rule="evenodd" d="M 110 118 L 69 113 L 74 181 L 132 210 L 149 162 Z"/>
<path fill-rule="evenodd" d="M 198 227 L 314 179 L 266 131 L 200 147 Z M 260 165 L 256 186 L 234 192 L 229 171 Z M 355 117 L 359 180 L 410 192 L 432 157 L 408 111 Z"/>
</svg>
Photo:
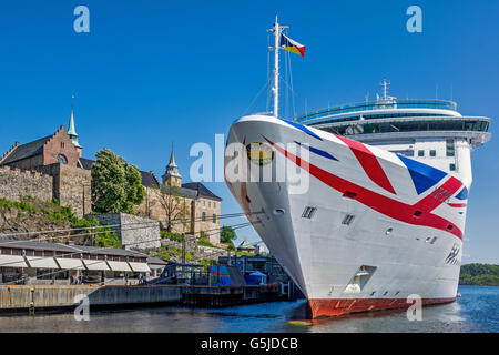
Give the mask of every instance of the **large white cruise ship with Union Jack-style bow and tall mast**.
<svg viewBox="0 0 499 355">
<path fill-rule="evenodd" d="M 283 119 L 284 29 L 272 29 L 274 111 L 227 135 L 225 179 L 247 219 L 314 318 L 455 301 L 470 155 L 491 120 L 452 101 L 399 100 L 386 81 L 374 101 Z"/>
</svg>

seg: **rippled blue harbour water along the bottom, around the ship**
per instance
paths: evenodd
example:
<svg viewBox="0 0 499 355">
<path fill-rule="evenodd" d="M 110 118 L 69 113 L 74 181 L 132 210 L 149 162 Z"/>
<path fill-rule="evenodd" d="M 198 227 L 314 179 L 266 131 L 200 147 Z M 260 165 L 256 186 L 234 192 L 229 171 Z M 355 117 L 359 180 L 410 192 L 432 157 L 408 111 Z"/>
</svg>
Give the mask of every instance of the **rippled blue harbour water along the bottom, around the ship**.
<svg viewBox="0 0 499 355">
<path fill-rule="evenodd" d="M 167 306 L 91 312 L 89 322 L 73 314 L 0 317 L 0 332 L 499 332 L 499 287 L 461 286 L 462 297 L 424 307 L 421 322 L 409 322 L 405 311 L 374 312 L 291 325 L 305 317 L 306 303 L 277 302 L 226 308 Z"/>
</svg>

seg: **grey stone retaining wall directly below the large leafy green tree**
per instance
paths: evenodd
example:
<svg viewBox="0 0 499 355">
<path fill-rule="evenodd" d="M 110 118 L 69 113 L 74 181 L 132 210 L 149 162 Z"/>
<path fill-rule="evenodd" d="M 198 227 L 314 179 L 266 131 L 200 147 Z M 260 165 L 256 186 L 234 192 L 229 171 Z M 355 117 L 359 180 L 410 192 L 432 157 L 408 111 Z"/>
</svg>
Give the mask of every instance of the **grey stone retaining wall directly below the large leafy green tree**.
<svg viewBox="0 0 499 355">
<path fill-rule="evenodd" d="M 103 225 L 113 225 L 125 250 L 151 250 L 161 246 L 160 222 L 126 213 L 91 214 Z"/>
</svg>

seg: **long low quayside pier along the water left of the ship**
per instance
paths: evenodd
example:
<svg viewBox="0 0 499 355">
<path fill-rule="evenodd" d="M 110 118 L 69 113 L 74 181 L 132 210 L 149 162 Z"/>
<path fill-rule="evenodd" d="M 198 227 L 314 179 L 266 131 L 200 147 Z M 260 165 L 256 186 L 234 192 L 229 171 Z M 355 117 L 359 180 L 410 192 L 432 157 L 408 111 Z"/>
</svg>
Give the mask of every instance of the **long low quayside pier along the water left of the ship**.
<svg viewBox="0 0 499 355">
<path fill-rule="evenodd" d="M 157 306 L 230 306 L 246 303 L 285 301 L 279 284 L 257 286 L 210 285 L 1 285 L 0 313 L 32 313 L 72 310 L 81 295 L 90 307 L 113 308 Z"/>
</svg>

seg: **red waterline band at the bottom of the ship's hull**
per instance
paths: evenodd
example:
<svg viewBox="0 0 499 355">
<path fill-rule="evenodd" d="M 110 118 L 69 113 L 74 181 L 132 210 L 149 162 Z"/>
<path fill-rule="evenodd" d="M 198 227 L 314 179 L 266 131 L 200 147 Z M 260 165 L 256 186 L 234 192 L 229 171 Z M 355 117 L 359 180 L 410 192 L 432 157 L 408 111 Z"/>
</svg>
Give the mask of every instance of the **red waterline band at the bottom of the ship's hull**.
<svg viewBox="0 0 499 355">
<path fill-rule="evenodd" d="M 456 297 L 448 298 L 422 298 L 422 305 L 450 303 Z M 406 298 L 326 298 L 308 300 L 308 306 L 312 311 L 312 317 L 339 316 L 349 313 L 371 312 L 383 310 L 408 308 L 414 304 L 407 303 Z"/>
</svg>

